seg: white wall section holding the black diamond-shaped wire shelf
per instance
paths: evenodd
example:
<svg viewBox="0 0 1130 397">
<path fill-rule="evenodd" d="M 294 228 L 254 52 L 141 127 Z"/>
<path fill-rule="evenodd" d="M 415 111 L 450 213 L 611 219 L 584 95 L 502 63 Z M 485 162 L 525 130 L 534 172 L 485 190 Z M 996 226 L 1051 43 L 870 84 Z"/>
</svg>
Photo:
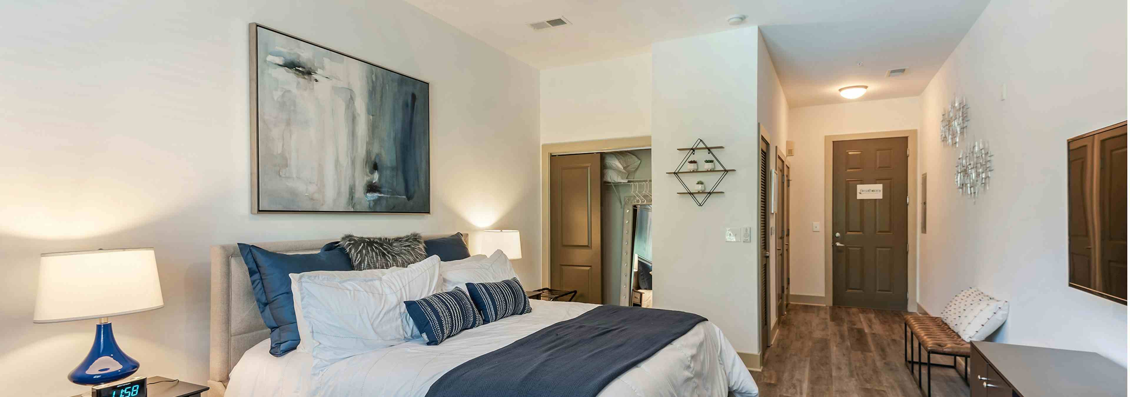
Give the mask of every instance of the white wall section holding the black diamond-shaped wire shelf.
<svg viewBox="0 0 1130 397">
<path fill-rule="evenodd" d="M 757 245 L 725 242 L 723 228 L 757 224 L 757 43 L 750 27 L 652 45 L 654 305 L 706 317 L 747 353 L 758 352 Z M 738 170 L 703 206 L 659 174 L 698 138 Z"/>
</svg>

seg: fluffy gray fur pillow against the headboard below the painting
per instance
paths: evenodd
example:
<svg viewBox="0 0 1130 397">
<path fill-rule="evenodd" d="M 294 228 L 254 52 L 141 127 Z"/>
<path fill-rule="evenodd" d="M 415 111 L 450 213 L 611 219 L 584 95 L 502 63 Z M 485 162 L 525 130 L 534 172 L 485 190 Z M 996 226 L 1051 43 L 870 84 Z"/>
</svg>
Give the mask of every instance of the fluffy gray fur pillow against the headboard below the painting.
<svg viewBox="0 0 1130 397">
<path fill-rule="evenodd" d="M 420 233 L 400 237 L 341 236 L 341 247 L 349 254 L 355 271 L 408 267 L 424 261 L 424 238 Z"/>
</svg>

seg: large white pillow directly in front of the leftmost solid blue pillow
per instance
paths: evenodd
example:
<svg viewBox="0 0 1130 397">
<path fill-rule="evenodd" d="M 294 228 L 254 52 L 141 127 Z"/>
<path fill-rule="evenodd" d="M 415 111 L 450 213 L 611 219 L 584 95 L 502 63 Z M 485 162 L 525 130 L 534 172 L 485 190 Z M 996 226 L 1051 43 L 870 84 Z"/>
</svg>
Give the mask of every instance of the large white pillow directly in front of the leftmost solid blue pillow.
<svg viewBox="0 0 1130 397">
<path fill-rule="evenodd" d="M 380 277 L 311 273 L 292 275 L 292 281 L 314 341 L 311 354 L 316 376 L 337 361 L 410 339 L 415 327 L 403 302 L 435 293 L 440 257 L 431 256 Z"/>
</svg>

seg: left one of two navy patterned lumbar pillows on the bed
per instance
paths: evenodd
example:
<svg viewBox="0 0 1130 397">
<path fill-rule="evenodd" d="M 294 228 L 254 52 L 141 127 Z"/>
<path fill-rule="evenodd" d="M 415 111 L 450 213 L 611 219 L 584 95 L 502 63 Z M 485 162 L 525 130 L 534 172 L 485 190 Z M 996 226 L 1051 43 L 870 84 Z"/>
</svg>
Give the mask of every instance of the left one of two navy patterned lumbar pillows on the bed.
<svg viewBox="0 0 1130 397">
<path fill-rule="evenodd" d="M 427 338 L 428 345 L 437 345 L 463 329 L 483 325 L 483 316 L 475 309 L 467 292 L 455 288 L 447 292 L 434 293 L 420 300 L 405 301 L 408 317 Z"/>
</svg>

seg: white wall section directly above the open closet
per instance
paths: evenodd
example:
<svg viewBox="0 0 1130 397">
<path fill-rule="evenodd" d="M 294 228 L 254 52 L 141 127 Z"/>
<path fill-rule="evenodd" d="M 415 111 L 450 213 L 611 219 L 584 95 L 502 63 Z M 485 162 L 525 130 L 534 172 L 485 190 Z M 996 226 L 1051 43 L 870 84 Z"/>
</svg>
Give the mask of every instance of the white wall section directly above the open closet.
<svg viewBox="0 0 1130 397">
<path fill-rule="evenodd" d="M 541 143 L 651 134 L 651 53 L 541 71 Z"/>
</svg>

